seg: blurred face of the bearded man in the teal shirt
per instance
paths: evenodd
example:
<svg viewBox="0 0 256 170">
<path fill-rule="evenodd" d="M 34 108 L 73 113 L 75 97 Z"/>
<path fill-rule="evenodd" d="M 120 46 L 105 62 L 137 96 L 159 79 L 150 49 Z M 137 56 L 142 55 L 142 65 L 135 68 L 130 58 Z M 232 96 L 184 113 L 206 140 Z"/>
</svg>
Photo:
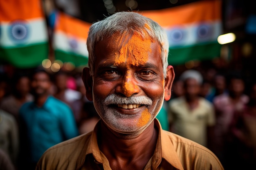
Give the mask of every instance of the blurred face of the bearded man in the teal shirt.
<svg viewBox="0 0 256 170">
<path fill-rule="evenodd" d="M 36 96 L 47 95 L 51 88 L 49 75 L 44 72 L 38 72 L 31 81 L 31 91 Z"/>
</svg>

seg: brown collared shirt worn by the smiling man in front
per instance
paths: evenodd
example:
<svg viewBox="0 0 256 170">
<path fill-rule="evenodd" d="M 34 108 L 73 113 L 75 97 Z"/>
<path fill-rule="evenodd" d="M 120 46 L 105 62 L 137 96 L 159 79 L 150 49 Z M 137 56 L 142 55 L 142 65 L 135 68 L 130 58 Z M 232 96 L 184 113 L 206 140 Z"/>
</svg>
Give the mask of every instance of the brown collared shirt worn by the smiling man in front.
<svg viewBox="0 0 256 170">
<path fill-rule="evenodd" d="M 189 139 L 159 129 L 154 155 L 144 170 L 224 170 L 218 158 Z M 38 161 L 36 170 L 111 170 L 108 159 L 99 150 L 97 129 L 49 148 Z"/>
</svg>

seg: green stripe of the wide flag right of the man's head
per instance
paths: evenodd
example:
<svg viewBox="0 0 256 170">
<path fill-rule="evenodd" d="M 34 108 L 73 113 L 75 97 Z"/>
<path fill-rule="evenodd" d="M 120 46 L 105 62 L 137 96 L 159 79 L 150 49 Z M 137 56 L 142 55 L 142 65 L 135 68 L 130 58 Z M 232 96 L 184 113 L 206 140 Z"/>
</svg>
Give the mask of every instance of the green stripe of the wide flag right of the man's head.
<svg viewBox="0 0 256 170">
<path fill-rule="evenodd" d="M 220 48 L 221 45 L 216 42 L 180 48 L 170 47 L 168 63 L 170 65 L 181 65 L 191 60 L 211 60 L 220 56 Z"/>
</svg>

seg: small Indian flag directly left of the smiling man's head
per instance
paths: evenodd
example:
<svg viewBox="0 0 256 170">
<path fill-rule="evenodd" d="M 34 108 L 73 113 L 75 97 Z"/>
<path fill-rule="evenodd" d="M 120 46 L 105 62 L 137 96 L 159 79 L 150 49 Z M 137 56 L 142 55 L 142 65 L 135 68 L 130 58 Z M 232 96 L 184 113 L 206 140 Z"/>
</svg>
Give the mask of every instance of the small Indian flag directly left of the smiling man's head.
<svg viewBox="0 0 256 170">
<path fill-rule="evenodd" d="M 75 66 L 87 64 L 86 40 L 90 26 L 88 22 L 58 12 L 53 40 L 55 59 Z"/>
</svg>

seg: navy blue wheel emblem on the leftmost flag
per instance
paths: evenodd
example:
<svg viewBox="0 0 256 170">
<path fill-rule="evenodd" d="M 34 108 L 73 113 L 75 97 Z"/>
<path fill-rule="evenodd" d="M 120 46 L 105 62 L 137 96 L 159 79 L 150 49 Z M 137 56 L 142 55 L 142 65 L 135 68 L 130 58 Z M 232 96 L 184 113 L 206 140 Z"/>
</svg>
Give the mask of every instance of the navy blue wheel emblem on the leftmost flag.
<svg viewBox="0 0 256 170">
<path fill-rule="evenodd" d="M 15 43 L 23 43 L 29 37 L 29 27 L 25 22 L 13 22 L 9 27 L 9 37 Z"/>
</svg>

